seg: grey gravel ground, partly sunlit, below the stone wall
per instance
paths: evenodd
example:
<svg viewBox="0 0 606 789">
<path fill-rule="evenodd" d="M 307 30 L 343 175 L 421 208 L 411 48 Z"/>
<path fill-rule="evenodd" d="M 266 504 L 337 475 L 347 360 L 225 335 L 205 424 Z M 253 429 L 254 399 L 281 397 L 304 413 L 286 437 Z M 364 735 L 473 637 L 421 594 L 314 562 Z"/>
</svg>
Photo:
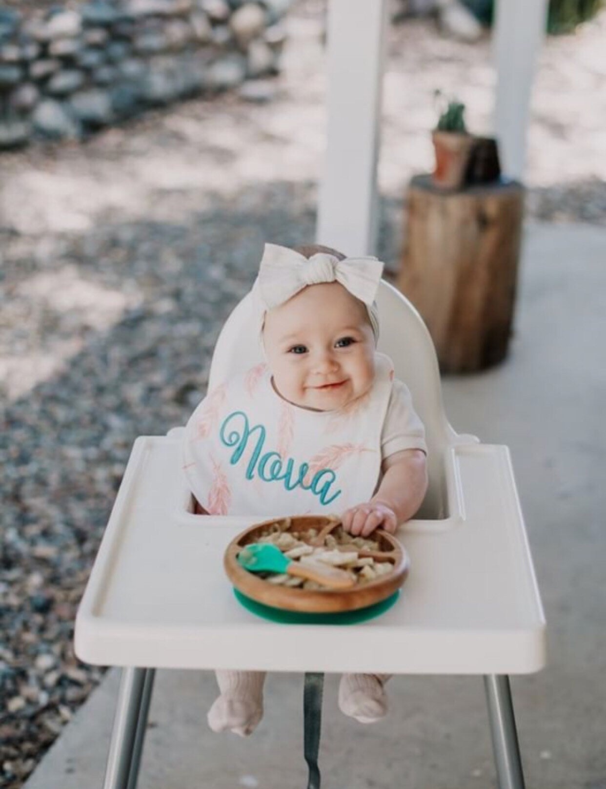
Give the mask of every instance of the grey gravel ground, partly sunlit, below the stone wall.
<svg viewBox="0 0 606 789">
<path fill-rule="evenodd" d="M 0 776 L 19 787 L 102 671 L 72 623 L 133 440 L 183 424 L 265 240 L 313 237 L 323 144 L 322 2 L 304 0 L 269 104 L 195 100 L 87 144 L 0 158 Z M 541 54 L 529 215 L 606 224 L 606 17 Z M 396 269 L 403 193 L 431 166 L 433 88 L 488 128 L 489 42 L 392 29 L 380 254 Z"/>
</svg>

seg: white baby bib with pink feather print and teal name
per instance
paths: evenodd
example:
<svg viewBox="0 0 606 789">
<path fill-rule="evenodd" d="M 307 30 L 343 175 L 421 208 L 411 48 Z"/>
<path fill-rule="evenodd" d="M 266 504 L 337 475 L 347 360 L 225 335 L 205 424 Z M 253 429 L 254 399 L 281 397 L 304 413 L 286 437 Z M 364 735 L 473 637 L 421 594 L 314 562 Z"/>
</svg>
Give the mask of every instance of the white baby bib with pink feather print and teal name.
<svg viewBox="0 0 606 789">
<path fill-rule="evenodd" d="M 267 365 L 221 383 L 185 428 L 183 468 L 210 514 L 340 513 L 368 501 L 381 473 L 393 365 L 376 354 L 373 386 L 339 411 L 293 406 Z"/>
</svg>

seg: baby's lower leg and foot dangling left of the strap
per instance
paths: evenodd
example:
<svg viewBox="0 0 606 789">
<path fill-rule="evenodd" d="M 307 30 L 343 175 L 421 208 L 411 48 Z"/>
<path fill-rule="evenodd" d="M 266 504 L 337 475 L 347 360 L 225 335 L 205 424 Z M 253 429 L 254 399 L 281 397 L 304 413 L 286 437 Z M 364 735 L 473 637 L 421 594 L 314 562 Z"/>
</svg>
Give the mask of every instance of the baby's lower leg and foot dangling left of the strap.
<svg viewBox="0 0 606 789">
<path fill-rule="evenodd" d="M 213 731 L 233 731 L 246 737 L 263 716 L 265 671 L 215 671 L 221 695 L 208 711 Z"/>
</svg>

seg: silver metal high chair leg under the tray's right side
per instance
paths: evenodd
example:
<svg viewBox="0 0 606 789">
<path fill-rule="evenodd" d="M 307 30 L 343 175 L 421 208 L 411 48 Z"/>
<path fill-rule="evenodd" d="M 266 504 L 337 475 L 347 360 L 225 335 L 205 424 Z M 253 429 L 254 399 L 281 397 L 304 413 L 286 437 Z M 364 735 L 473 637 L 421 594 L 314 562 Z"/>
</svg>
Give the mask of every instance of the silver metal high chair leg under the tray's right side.
<svg viewBox="0 0 606 789">
<path fill-rule="evenodd" d="M 488 704 L 490 733 L 499 789 L 524 789 L 518 732 L 507 675 L 485 675 L 484 688 Z"/>
</svg>

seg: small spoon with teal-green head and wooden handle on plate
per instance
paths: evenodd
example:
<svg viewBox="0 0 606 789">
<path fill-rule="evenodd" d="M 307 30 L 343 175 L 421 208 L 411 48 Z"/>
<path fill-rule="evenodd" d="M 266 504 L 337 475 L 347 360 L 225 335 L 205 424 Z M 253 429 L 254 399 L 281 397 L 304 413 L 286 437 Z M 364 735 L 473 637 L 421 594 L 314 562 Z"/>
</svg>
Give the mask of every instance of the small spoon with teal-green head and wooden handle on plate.
<svg viewBox="0 0 606 789">
<path fill-rule="evenodd" d="M 288 573 L 296 578 L 316 581 L 330 589 L 351 589 L 355 585 L 355 579 L 345 570 L 321 562 L 313 565 L 293 562 L 275 545 L 251 543 L 240 551 L 237 559 L 244 570 L 250 573 Z"/>
</svg>

